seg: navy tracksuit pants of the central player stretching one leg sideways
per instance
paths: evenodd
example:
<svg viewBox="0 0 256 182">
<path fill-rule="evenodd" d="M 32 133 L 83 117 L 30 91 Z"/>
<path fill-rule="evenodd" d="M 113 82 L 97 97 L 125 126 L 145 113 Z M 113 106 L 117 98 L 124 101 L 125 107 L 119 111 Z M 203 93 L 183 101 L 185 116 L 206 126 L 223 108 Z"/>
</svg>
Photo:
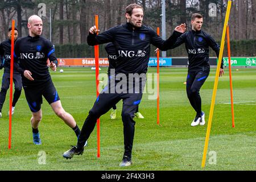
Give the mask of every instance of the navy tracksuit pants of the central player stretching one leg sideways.
<svg viewBox="0 0 256 182">
<path fill-rule="evenodd" d="M 135 132 L 135 121 L 134 121 L 134 113 L 137 110 L 137 107 L 142 99 L 142 93 L 144 89 L 144 84 L 146 84 L 146 77 L 143 80 L 134 81 L 133 88 L 127 86 L 127 88 L 123 88 L 122 93 L 111 92 L 113 88 L 119 88 L 120 82 L 114 81 L 114 84 L 107 85 L 104 90 L 99 94 L 97 100 L 94 102 L 92 109 L 89 111 L 88 117 L 85 119 L 84 125 L 82 126 L 81 134 L 79 140 L 77 142 L 77 147 L 82 148 L 84 143 L 89 138 L 90 134 L 94 130 L 94 127 L 97 123 L 97 119 L 101 117 L 101 115 L 107 113 L 115 104 L 117 104 L 120 100 L 123 100 L 122 107 L 122 122 L 123 122 L 123 137 L 125 144 L 125 152 L 124 157 L 127 159 L 131 159 L 131 151 L 133 148 L 133 139 Z M 128 83 L 127 83 L 128 85 Z M 135 90 L 139 92 L 135 92 Z M 106 93 L 108 90 L 108 93 Z"/>
</svg>

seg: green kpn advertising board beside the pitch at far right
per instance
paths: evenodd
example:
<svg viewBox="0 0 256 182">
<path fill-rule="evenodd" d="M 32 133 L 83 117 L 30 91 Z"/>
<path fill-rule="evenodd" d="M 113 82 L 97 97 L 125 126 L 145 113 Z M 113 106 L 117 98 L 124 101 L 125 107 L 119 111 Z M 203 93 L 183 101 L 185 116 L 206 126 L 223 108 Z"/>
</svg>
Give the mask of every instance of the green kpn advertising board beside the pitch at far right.
<svg viewBox="0 0 256 182">
<path fill-rule="evenodd" d="M 223 60 L 224 66 L 228 66 L 228 57 L 223 57 Z M 234 67 L 256 67 L 256 57 L 232 57 L 231 65 Z"/>
</svg>

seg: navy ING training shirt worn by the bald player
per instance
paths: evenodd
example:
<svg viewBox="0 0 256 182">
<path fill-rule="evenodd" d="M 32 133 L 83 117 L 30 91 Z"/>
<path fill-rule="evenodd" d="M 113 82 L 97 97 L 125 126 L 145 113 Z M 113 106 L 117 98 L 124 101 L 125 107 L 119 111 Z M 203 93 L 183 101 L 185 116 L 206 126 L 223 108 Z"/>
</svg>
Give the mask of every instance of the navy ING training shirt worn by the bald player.
<svg viewBox="0 0 256 182">
<path fill-rule="evenodd" d="M 23 85 L 41 84 L 51 79 L 47 59 L 57 65 L 53 44 L 42 36 L 26 36 L 16 40 L 14 46 L 15 61 L 19 60 L 18 71 L 22 73 Z M 25 70 L 32 73 L 34 81 L 23 76 Z"/>
</svg>

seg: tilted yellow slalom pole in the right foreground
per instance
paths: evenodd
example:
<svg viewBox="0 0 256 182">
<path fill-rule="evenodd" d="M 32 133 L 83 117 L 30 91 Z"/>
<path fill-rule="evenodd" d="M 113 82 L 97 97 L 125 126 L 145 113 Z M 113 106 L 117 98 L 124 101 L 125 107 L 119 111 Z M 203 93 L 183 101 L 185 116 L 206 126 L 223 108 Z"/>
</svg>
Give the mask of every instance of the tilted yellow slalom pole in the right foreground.
<svg viewBox="0 0 256 182">
<path fill-rule="evenodd" d="M 231 3 L 232 3 L 232 1 L 229 0 L 228 7 L 226 9 L 226 18 L 225 18 L 224 28 L 223 28 L 223 32 L 222 32 L 220 55 L 218 56 L 218 65 L 217 65 L 217 71 L 216 71 L 214 87 L 213 87 L 212 104 L 210 104 L 210 113 L 209 113 L 209 120 L 208 120 L 208 126 L 207 126 L 207 135 L 205 137 L 204 154 L 203 154 L 203 160 L 202 160 L 202 164 L 201 164 L 202 168 L 205 167 L 205 160 L 206 160 L 206 156 L 207 156 L 207 148 L 208 148 L 209 137 L 210 137 L 210 127 L 212 126 L 212 116 L 213 116 L 216 92 L 217 92 L 217 87 L 218 87 L 218 77 L 219 77 L 219 74 L 220 74 L 221 60 L 222 60 L 222 56 L 223 56 L 225 37 L 226 37 L 226 27 L 227 27 L 228 21 L 229 21 Z"/>
</svg>

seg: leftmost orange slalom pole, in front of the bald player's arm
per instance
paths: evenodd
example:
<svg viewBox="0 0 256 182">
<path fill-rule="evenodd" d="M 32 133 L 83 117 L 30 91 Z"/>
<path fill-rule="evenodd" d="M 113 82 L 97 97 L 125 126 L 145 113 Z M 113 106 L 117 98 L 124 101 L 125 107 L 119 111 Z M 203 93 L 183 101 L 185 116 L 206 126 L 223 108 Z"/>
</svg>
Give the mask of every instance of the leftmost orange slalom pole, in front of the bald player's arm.
<svg viewBox="0 0 256 182">
<path fill-rule="evenodd" d="M 11 149 L 11 107 L 13 105 L 13 61 L 14 61 L 14 27 L 15 20 L 12 21 L 11 26 L 11 68 L 10 68 L 10 105 L 9 105 L 9 145 Z"/>
</svg>

